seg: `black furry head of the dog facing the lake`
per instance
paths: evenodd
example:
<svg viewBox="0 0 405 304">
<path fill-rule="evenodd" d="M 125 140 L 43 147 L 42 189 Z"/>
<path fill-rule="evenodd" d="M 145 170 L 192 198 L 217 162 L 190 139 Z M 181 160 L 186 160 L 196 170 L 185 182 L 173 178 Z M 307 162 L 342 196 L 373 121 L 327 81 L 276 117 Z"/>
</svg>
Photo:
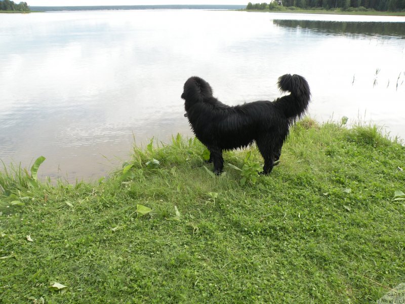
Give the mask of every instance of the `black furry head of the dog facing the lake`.
<svg viewBox="0 0 405 304">
<path fill-rule="evenodd" d="M 212 97 L 212 88 L 204 79 L 193 76 L 184 83 L 181 98 L 184 99 L 184 107 L 186 112 L 193 104 L 203 102 L 209 97 Z"/>
</svg>

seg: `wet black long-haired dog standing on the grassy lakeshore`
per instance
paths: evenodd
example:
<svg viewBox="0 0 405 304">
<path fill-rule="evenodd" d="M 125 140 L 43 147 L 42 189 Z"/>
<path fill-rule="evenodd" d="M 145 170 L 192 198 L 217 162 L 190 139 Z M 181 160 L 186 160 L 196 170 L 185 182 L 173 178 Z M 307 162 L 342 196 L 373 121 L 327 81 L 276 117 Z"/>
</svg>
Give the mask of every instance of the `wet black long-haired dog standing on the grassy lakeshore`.
<svg viewBox="0 0 405 304">
<path fill-rule="evenodd" d="M 264 159 L 263 174 L 269 174 L 281 154 L 289 128 L 306 111 L 310 100 L 307 81 L 300 75 L 282 75 L 278 88 L 290 95 L 271 101 L 228 106 L 212 96 L 211 86 L 199 77 L 184 84 L 185 117 L 195 136 L 210 150 L 209 162 L 220 174 L 223 150 L 246 147 L 256 141 Z"/>
</svg>

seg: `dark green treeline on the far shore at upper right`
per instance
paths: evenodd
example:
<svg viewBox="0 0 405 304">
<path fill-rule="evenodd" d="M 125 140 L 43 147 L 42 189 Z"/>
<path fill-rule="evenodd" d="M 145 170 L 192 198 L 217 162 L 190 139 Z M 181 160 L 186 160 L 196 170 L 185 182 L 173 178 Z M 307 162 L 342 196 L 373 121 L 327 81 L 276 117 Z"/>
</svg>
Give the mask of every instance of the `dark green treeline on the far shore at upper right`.
<svg viewBox="0 0 405 304">
<path fill-rule="evenodd" d="M 247 10 L 274 10 L 279 6 L 301 9 L 341 9 L 343 11 L 405 11 L 405 0 L 275 0 L 267 3 L 252 4 Z"/>
</svg>

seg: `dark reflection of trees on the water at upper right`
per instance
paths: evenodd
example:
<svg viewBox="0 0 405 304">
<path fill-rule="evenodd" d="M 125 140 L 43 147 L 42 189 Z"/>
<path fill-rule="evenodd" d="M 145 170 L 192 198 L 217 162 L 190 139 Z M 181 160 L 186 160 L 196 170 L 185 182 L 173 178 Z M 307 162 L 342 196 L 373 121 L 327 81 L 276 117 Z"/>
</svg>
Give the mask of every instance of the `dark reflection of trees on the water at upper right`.
<svg viewBox="0 0 405 304">
<path fill-rule="evenodd" d="M 304 28 L 324 34 L 353 35 L 353 36 L 397 36 L 404 38 L 403 22 L 341 22 L 325 20 L 281 20 L 273 23 L 281 27 Z"/>
</svg>

